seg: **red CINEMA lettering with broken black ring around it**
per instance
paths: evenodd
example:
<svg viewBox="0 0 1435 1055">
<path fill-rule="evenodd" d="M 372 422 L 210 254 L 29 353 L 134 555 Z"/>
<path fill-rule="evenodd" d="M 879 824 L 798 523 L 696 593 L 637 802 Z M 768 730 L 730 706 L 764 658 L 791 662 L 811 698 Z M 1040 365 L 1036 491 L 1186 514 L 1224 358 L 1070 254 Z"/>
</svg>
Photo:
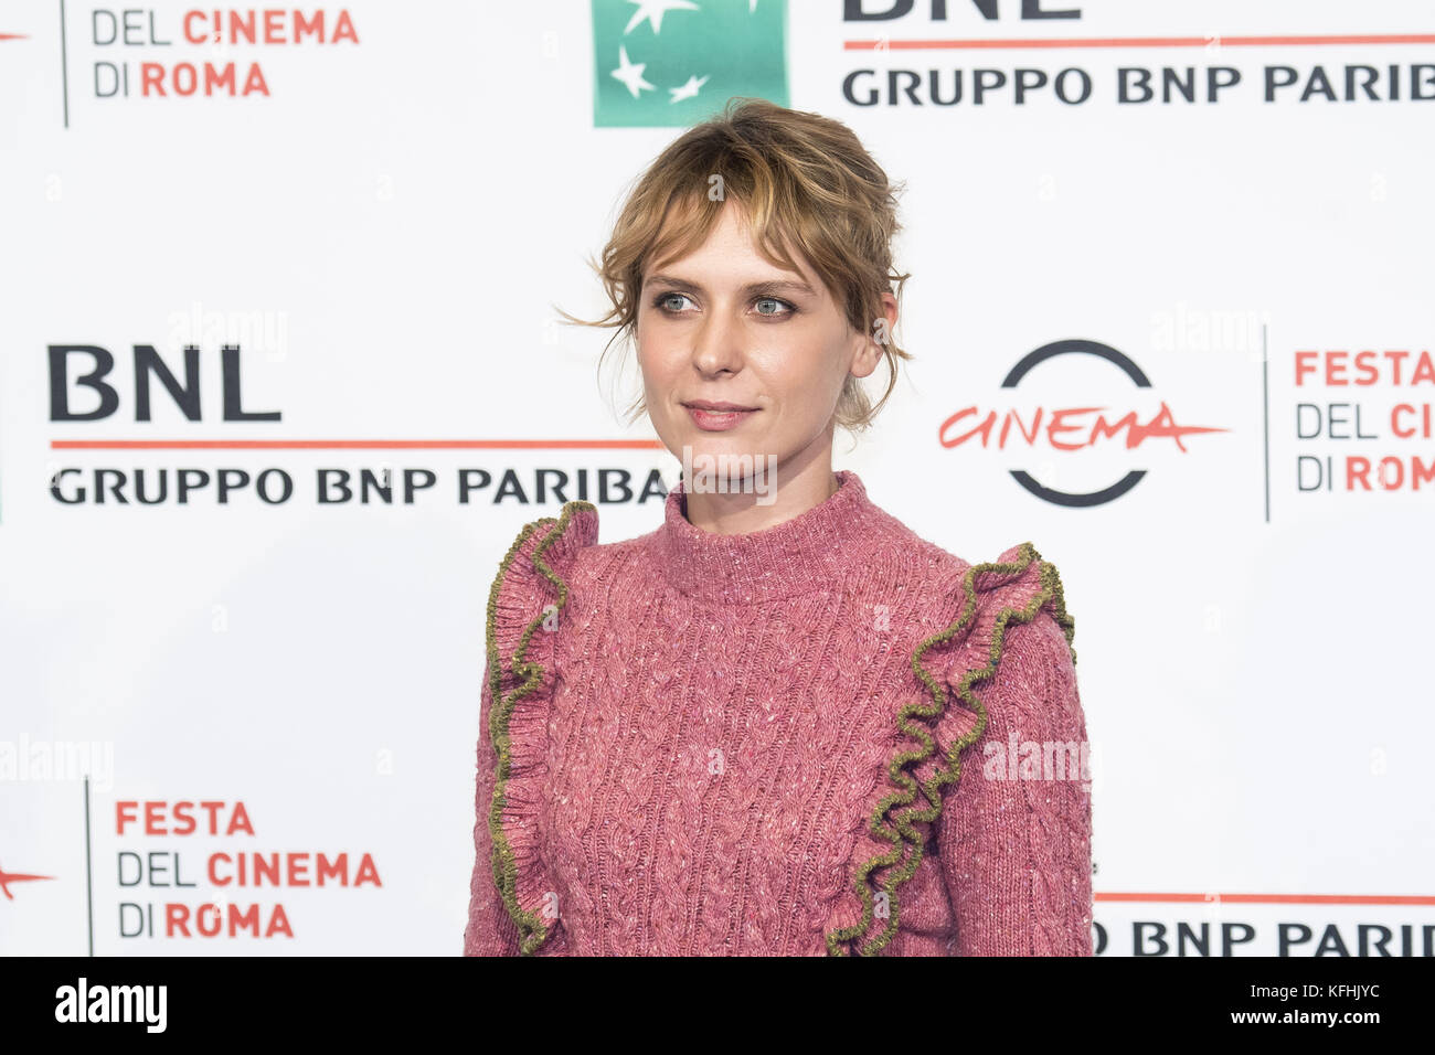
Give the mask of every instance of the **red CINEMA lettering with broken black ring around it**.
<svg viewBox="0 0 1435 1055">
<path fill-rule="evenodd" d="M 1042 344 L 1035 352 L 1023 356 L 1016 366 L 1002 380 L 1003 389 L 1015 389 L 1022 380 L 1045 363 L 1058 356 L 1093 356 L 1111 363 L 1135 385 L 1138 389 L 1149 389 L 1151 380 L 1128 356 L 1109 344 L 1096 340 L 1053 340 Z M 1182 425 L 1175 419 L 1165 400 L 1149 421 L 1141 421 L 1135 411 L 1126 411 L 1119 418 L 1106 416 L 1109 408 L 1105 406 L 1038 406 L 1029 419 L 1023 419 L 1016 409 L 984 411 L 980 406 L 966 406 L 947 418 L 937 432 L 937 438 L 946 448 L 961 446 L 977 441 L 983 448 L 996 446 L 1006 449 L 1007 442 L 1025 442 L 1030 448 L 1046 445 L 1053 451 L 1083 451 L 1098 442 L 1121 438 L 1128 451 L 1135 451 L 1149 441 L 1174 441 L 1182 451 L 1188 448 L 1182 439 L 1201 432 L 1230 432 L 1230 429 L 1207 425 Z M 1016 436 L 1013 438 L 1013 426 Z M 1012 478 L 1045 502 L 1066 507 L 1091 507 L 1114 502 L 1131 491 L 1147 475 L 1147 469 L 1129 469 L 1116 482 L 1095 491 L 1060 491 L 1039 481 L 1026 469 L 1010 469 Z"/>
</svg>

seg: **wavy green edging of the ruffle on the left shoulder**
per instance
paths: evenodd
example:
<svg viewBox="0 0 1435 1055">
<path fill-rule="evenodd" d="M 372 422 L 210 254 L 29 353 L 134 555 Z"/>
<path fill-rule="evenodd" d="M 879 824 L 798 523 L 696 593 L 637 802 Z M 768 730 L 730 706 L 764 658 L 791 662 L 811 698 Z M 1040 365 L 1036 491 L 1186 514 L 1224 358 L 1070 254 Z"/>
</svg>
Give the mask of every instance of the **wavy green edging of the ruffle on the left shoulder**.
<svg viewBox="0 0 1435 1055">
<path fill-rule="evenodd" d="M 563 606 L 568 603 L 568 584 L 564 583 L 554 573 L 554 570 L 544 563 L 542 554 L 548 547 L 558 541 L 563 533 L 568 528 L 573 514 L 578 510 L 593 510 L 597 512 L 597 508 L 591 502 L 565 502 L 563 514 L 557 521 L 552 517 L 544 517 L 541 520 L 535 520 L 532 524 L 528 524 L 521 533 L 518 533 L 518 538 L 514 540 L 514 544 L 508 547 L 508 553 L 504 554 L 504 560 L 498 566 L 498 574 L 494 577 L 494 586 L 488 591 L 488 622 L 485 634 L 488 646 L 488 688 L 489 696 L 492 698 L 492 705 L 488 713 L 488 731 L 494 741 L 494 749 L 498 754 L 497 778 L 494 782 L 494 802 L 488 812 L 488 831 L 492 838 L 494 848 L 494 883 L 498 886 L 498 893 L 504 899 L 504 906 L 508 909 L 509 917 L 512 917 L 518 927 L 518 952 L 522 956 L 531 956 L 544 942 L 548 940 L 548 934 L 551 932 L 547 926 L 544 926 L 537 913 L 525 911 L 524 907 L 518 904 L 518 863 L 502 825 L 504 805 L 507 804 L 508 774 L 512 766 L 512 744 L 508 736 L 508 722 L 514 713 L 514 705 L 531 693 L 542 682 L 542 666 L 540 663 L 527 662 L 525 656 L 528 655 L 528 643 L 532 640 L 534 632 L 545 619 L 547 609 L 541 610 L 534 617 L 534 620 L 524 630 L 522 637 L 518 639 L 518 647 L 514 649 L 514 659 L 509 669 L 515 676 L 522 677 L 524 680 L 507 698 L 502 696 L 502 663 L 498 656 L 498 642 L 494 639 L 494 627 L 498 616 L 498 594 L 499 590 L 502 590 L 504 580 L 508 577 L 509 567 L 532 533 L 547 524 L 555 524 L 555 527 L 541 543 L 538 543 L 538 547 L 532 554 L 532 563 L 550 583 L 558 587 L 557 607 L 561 610 Z"/>
</svg>

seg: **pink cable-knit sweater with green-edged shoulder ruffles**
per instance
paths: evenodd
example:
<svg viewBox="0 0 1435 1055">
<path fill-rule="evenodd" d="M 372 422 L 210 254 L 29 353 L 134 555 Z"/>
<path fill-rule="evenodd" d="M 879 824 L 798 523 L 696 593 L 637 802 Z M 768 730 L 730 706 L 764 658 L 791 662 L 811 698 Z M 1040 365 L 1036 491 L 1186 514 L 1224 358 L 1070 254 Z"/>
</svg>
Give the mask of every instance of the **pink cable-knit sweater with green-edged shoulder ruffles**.
<svg viewBox="0 0 1435 1055">
<path fill-rule="evenodd" d="M 967 564 L 837 475 L 751 534 L 682 484 L 639 538 L 581 501 L 518 534 L 464 955 L 1091 955 L 1056 568 Z"/>
</svg>

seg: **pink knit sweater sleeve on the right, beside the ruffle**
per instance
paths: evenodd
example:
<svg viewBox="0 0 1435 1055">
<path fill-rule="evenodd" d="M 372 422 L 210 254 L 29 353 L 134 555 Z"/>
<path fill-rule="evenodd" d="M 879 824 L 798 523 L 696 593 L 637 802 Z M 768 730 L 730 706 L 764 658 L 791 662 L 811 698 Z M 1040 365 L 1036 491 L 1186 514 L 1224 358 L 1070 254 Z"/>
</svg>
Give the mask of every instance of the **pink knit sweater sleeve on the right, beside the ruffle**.
<svg viewBox="0 0 1435 1055">
<path fill-rule="evenodd" d="M 1012 619 L 994 675 L 956 663 L 982 738 L 961 752 L 937 845 L 959 956 L 1091 956 L 1091 772 L 1075 660 L 1053 611 Z"/>
</svg>

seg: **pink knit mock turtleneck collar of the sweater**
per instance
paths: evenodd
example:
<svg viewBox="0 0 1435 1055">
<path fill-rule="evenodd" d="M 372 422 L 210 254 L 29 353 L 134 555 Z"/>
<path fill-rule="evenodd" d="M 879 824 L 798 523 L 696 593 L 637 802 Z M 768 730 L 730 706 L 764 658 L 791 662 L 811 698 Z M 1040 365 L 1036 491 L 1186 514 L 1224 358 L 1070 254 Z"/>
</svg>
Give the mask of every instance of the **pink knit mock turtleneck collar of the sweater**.
<svg viewBox="0 0 1435 1055">
<path fill-rule="evenodd" d="M 684 515 L 684 484 L 667 492 L 659 553 L 667 581 L 713 604 L 752 604 L 832 589 L 861 563 L 880 510 L 851 469 L 834 474 L 841 487 L 825 501 L 759 531 L 722 535 Z"/>
</svg>

